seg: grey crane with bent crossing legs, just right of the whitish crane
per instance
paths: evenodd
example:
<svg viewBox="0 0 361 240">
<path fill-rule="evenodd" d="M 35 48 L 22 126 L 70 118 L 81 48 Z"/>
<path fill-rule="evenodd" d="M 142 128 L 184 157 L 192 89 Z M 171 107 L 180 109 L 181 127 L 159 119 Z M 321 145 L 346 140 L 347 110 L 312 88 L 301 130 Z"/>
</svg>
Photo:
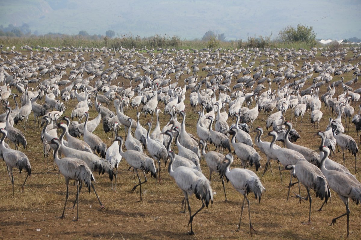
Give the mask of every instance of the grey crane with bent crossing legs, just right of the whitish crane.
<svg viewBox="0 0 361 240">
<path fill-rule="evenodd" d="M 152 158 L 149 158 L 144 153 L 140 153 L 139 151 L 135 150 L 127 150 L 123 152 L 122 146 L 123 146 L 123 138 L 121 136 L 117 136 L 114 141 L 119 142 L 119 153 L 124 158 L 127 163 L 134 169 L 134 172 L 136 173 L 136 176 L 138 177 L 139 184 L 135 185 L 132 189 L 134 191 L 136 187 L 140 187 L 140 201 L 142 201 L 142 184 L 145 184 L 147 182 L 147 177 L 145 176 L 146 173 L 150 172 L 151 176 L 156 178 L 157 176 L 157 169 L 154 164 L 154 160 Z M 138 174 L 138 170 L 141 170 L 144 174 L 144 182 L 140 181 L 140 177 Z"/>
</svg>

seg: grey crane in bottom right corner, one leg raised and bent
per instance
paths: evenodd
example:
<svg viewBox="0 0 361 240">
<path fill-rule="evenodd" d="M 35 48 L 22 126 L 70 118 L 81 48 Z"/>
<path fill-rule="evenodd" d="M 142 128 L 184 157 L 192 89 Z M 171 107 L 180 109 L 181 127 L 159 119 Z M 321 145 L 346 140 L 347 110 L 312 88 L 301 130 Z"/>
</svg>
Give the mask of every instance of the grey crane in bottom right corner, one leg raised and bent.
<svg viewBox="0 0 361 240">
<path fill-rule="evenodd" d="M 349 175 L 329 170 L 325 167 L 325 159 L 330 154 L 330 150 L 326 146 L 319 148 L 323 152 L 323 158 L 321 159 L 321 171 L 325 175 L 327 182 L 330 186 L 330 189 L 334 190 L 339 198 L 343 201 L 346 206 L 346 213 L 332 219 L 331 225 L 335 225 L 336 220 L 347 216 L 347 237 L 349 236 L 349 215 L 350 209 L 348 207 L 348 199 L 351 198 L 356 204 L 361 201 L 361 184 L 359 181 L 350 177 Z"/>
</svg>

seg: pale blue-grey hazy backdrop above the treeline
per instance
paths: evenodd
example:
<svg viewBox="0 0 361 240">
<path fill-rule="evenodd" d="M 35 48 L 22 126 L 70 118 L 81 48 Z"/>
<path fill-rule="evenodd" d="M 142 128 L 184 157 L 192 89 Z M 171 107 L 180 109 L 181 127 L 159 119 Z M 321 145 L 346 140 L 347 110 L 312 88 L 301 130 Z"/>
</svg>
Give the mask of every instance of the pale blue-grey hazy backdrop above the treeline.
<svg viewBox="0 0 361 240">
<path fill-rule="evenodd" d="M 361 38 L 361 0 L 0 0 L 0 25 L 27 23 L 34 33 L 60 32 L 140 37 L 155 34 L 201 39 L 212 30 L 226 40 L 277 38 L 297 24 L 317 39 Z"/>
</svg>

